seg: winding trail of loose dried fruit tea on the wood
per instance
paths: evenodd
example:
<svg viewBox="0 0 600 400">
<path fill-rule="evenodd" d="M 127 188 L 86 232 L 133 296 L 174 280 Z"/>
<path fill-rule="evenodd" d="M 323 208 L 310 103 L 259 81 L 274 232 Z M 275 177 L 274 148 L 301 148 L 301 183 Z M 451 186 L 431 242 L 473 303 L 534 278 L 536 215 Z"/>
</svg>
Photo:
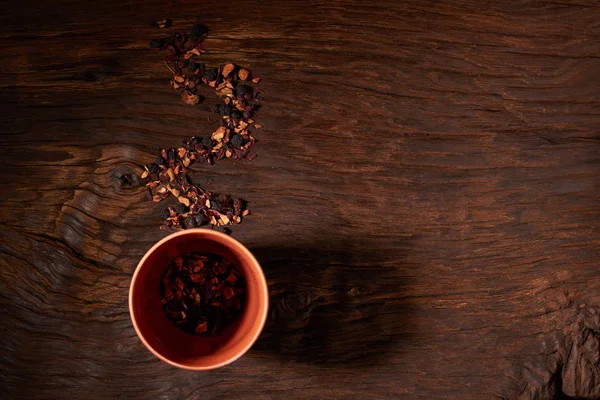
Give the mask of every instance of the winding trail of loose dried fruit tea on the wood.
<svg viewBox="0 0 600 400">
<path fill-rule="evenodd" d="M 158 26 L 166 24 L 164 20 Z M 198 90 L 206 86 L 214 90 L 223 100 L 211 107 L 221 115 L 220 126 L 210 135 L 192 137 L 179 148 L 162 149 L 159 157 L 145 167 L 142 178 L 148 187 L 148 196 L 159 202 L 170 196 L 179 204 L 163 210 L 165 225 L 174 229 L 190 228 L 212 224 L 223 226 L 238 224 L 249 211 L 241 199 L 212 194 L 192 184 L 187 172 L 194 163 L 214 164 L 223 158 L 252 160 L 256 155 L 250 150 L 256 143 L 249 129 L 260 129 L 255 123 L 254 112 L 260 89 L 251 86 L 260 82 L 259 77 L 235 64 L 228 63 L 217 68 L 206 67 L 199 62 L 206 52 L 202 42 L 208 28 L 196 24 L 189 34 L 174 35 L 153 39 L 150 47 L 166 53 L 165 64 L 173 73 L 171 86 L 181 93 L 187 104 L 198 104 L 201 96 Z"/>
</svg>

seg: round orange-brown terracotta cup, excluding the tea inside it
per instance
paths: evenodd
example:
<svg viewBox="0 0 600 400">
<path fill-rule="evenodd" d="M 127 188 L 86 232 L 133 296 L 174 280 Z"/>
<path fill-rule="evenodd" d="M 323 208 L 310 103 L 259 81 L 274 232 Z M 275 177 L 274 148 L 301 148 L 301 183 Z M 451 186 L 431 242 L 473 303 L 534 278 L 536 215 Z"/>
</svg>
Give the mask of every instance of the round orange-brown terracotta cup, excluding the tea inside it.
<svg viewBox="0 0 600 400">
<path fill-rule="evenodd" d="M 216 337 L 190 335 L 167 319 L 160 303 L 160 280 L 180 254 L 207 251 L 233 262 L 246 280 L 242 315 Z M 208 370 L 227 365 L 254 344 L 267 318 L 269 296 L 260 265 L 244 245 L 223 233 L 188 229 L 156 243 L 138 264 L 129 289 L 129 312 L 142 343 L 156 357 L 179 368 Z"/>
</svg>

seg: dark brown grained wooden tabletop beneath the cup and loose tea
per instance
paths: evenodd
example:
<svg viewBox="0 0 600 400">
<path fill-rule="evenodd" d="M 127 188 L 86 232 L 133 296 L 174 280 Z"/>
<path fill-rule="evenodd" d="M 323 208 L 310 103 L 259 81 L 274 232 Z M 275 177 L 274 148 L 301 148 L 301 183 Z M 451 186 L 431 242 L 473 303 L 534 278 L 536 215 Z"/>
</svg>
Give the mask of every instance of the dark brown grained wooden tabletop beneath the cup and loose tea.
<svg viewBox="0 0 600 400">
<path fill-rule="evenodd" d="M 600 7 L 577 1 L 9 1 L 0 207 L 3 399 L 600 396 Z M 127 295 L 161 205 L 120 177 L 211 132 L 150 27 L 212 29 L 263 78 L 258 158 L 199 166 L 272 309 L 194 373 Z M 569 397 L 570 396 L 570 397 Z"/>
</svg>

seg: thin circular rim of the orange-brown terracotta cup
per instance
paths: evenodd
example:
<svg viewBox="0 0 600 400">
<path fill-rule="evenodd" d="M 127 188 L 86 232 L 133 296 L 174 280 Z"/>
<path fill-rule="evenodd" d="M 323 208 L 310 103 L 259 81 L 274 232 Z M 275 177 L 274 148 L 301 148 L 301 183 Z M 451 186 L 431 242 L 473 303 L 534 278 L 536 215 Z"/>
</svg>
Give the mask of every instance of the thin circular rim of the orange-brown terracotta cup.
<svg viewBox="0 0 600 400">
<path fill-rule="evenodd" d="M 262 288 L 261 292 L 263 295 L 263 300 L 264 300 L 264 310 L 262 315 L 259 316 L 259 318 L 261 318 L 260 321 L 260 326 L 259 328 L 256 330 L 256 333 L 254 334 L 254 336 L 250 339 L 250 341 L 248 342 L 248 344 L 246 346 L 244 346 L 244 348 L 239 351 L 237 354 L 235 354 L 233 357 L 230 357 L 229 359 L 222 361 L 218 364 L 215 365 L 209 365 L 209 366 L 205 366 L 205 367 L 194 367 L 194 366 L 190 366 L 190 365 L 186 365 L 186 364 L 181 364 L 178 362 L 175 362 L 173 360 L 168 359 L 167 357 L 164 357 L 162 354 L 160 354 L 159 352 L 157 352 L 156 350 L 154 350 L 154 348 L 152 348 L 152 346 L 150 346 L 150 344 L 148 344 L 148 342 L 146 341 L 146 339 L 144 338 L 144 336 L 142 335 L 142 333 L 140 332 L 140 329 L 138 328 L 138 324 L 136 321 L 136 317 L 134 315 L 133 312 L 133 291 L 135 288 L 135 284 L 137 282 L 137 277 L 138 274 L 140 272 L 140 269 L 142 267 L 142 265 L 144 264 L 144 262 L 146 261 L 146 259 L 150 256 L 150 254 L 152 254 L 154 251 L 156 251 L 156 249 L 158 249 L 161 245 L 163 245 L 165 242 L 168 242 L 169 240 L 172 240 L 173 238 L 176 238 L 178 236 L 184 236 L 184 235 L 189 235 L 192 233 L 201 233 L 204 236 L 207 237 L 212 237 L 212 239 L 219 241 L 223 244 L 225 244 L 228 247 L 237 247 L 240 249 L 240 251 L 242 253 L 244 253 L 245 256 L 247 256 L 250 260 L 251 260 L 251 264 L 252 264 L 252 268 L 255 270 L 257 277 L 258 277 L 258 281 L 260 282 L 260 286 Z M 243 356 L 244 354 L 246 354 L 246 352 L 248 350 L 250 350 L 250 348 L 254 345 L 254 343 L 256 342 L 256 340 L 258 339 L 258 337 L 260 336 L 260 334 L 262 333 L 265 323 L 267 321 L 267 315 L 269 312 L 269 288 L 267 286 L 267 280 L 265 279 L 265 274 L 259 264 L 259 262 L 256 260 L 256 257 L 254 257 L 254 254 L 252 254 L 250 252 L 250 250 L 248 250 L 246 248 L 246 246 L 244 246 L 240 241 L 238 241 L 237 239 L 232 238 L 229 235 L 226 235 L 222 232 L 218 232 L 215 230 L 210 230 L 210 229 L 205 229 L 205 228 L 192 228 L 192 229 L 185 229 L 179 232 L 175 232 L 172 233 L 168 236 L 165 236 L 164 238 L 162 238 L 161 240 L 159 240 L 158 242 L 156 242 L 148 251 L 146 251 L 146 253 L 144 254 L 144 256 L 142 257 L 142 259 L 140 260 L 140 262 L 138 263 L 137 267 L 135 268 L 135 271 L 133 273 L 133 276 L 131 278 L 131 284 L 129 286 L 129 316 L 131 318 L 131 322 L 133 324 L 133 327 L 135 329 L 135 332 L 137 334 L 137 336 L 140 338 L 140 340 L 142 341 L 142 343 L 144 344 L 144 346 L 150 350 L 150 352 L 152 354 L 154 354 L 155 357 L 157 357 L 158 359 L 174 366 L 174 367 L 178 367 L 178 368 L 182 368 L 182 369 L 187 369 L 187 370 L 192 370 L 192 371 L 207 371 L 207 370 L 212 370 L 212 369 L 217 369 L 217 368 L 221 368 L 224 367 L 225 365 L 231 364 L 232 362 L 236 361 L 238 358 L 240 358 L 241 356 Z"/>
</svg>

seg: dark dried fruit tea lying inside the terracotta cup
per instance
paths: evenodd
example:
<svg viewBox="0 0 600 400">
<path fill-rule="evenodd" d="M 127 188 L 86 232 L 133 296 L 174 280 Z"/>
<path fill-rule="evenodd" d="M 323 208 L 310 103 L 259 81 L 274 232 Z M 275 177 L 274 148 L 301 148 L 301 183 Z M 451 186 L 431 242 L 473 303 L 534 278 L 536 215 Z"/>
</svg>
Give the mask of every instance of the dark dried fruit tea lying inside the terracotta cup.
<svg viewBox="0 0 600 400">
<path fill-rule="evenodd" d="M 161 302 L 178 328 L 196 335 L 220 333 L 239 316 L 245 296 L 242 274 L 223 257 L 193 252 L 178 256 L 161 280 Z"/>
</svg>

